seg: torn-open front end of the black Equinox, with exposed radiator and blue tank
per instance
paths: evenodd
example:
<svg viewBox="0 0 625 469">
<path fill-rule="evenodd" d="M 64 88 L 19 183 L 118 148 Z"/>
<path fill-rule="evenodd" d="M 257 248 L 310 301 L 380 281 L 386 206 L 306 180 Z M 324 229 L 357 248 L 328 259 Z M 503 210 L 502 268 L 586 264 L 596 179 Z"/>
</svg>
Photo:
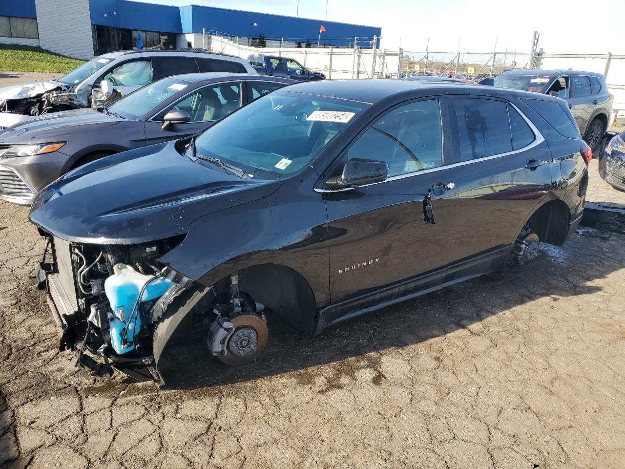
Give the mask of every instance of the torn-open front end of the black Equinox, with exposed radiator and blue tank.
<svg viewBox="0 0 625 469">
<path fill-rule="evenodd" d="M 37 264 L 36 276 L 61 328 L 59 350 L 76 353 L 74 366 L 101 380 L 110 378 L 114 367 L 136 380 L 163 384 L 152 351 L 156 305 L 163 296 L 173 300 L 192 282 L 158 258 L 178 243 L 173 238 L 89 245 L 49 236 L 51 262 Z"/>
</svg>

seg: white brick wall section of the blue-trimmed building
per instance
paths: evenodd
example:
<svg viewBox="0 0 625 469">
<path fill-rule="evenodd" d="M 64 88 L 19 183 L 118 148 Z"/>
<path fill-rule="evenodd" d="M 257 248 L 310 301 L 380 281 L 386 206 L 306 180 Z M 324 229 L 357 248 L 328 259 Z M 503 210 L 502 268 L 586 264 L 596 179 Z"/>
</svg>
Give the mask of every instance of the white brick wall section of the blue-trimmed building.
<svg viewBox="0 0 625 469">
<path fill-rule="evenodd" d="M 77 59 L 93 58 L 89 0 L 35 0 L 43 49 Z"/>
</svg>

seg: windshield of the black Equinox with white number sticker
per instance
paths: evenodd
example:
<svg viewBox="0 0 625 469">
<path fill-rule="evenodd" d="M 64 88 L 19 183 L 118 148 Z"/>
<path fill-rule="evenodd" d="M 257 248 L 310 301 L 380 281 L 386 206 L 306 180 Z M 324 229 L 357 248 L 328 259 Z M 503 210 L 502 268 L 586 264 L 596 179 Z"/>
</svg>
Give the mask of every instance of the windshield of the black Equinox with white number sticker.
<svg viewBox="0 0 625 469">
<path fill-rule="evenodd" d="M 346 99 L 274 91 L 200 134 L 196 154 L 219 158 L 253 178 L 286 178 L 308 166 L 368 107 Z"/>
</svg>

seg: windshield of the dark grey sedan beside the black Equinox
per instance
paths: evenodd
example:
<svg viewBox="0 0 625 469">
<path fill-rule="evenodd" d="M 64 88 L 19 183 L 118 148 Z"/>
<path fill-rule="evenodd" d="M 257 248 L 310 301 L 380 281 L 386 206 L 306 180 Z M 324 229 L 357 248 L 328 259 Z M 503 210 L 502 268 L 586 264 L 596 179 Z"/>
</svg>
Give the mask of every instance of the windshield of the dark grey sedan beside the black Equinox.
<svg viewBox="0 0 625 469">
<path fill-rule="evenodd" d="M 163 78 L 124 96 L 108 109 L 124 119 L 138 119 L 174 94 L 183 91 L 189 84 L 189 81 L 179 78 Z"/>
</svg>

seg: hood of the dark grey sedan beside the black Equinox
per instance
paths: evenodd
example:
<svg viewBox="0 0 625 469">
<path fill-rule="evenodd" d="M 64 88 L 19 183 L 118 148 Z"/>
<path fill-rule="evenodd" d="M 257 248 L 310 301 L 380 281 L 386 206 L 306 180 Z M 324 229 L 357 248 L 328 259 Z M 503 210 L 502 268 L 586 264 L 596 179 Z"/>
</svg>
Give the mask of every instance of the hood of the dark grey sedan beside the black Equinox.
<svg viewBox="0 0 625 469">
<path fill-rule="evenodd" d="M 73 109 L 71 111 L 61 111 L 59 113 L 43 114 L 29 119 L 22 119 L 5 129 L 0 134 L 0 141 L 6 143 L 31 143 L 33 138 L 42 136 L 57 139 L 60 134 L 71 128 L 78 126 L 88 126 L 93 124 L 112 125 L 124 119 L 108 116 L 96 111 L 96 109 Z M 46 143 L 37 141 L 37 143 Z"/>
</svg>

